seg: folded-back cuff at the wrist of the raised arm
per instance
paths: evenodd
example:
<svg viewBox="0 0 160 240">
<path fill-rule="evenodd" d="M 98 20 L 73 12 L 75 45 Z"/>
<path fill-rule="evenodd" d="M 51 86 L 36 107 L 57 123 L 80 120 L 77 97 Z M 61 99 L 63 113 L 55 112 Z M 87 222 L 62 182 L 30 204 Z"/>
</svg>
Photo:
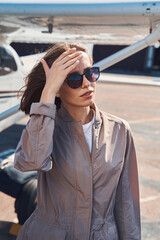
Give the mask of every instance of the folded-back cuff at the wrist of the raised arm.
<svg viewBox="0 0 160 240">
<path fill-rule="evenodd" d="M 38 114 L 55 119 L 56 105 L 54 103 L 36 102 L 31 104 L 29 115 Z"/>
</svg>

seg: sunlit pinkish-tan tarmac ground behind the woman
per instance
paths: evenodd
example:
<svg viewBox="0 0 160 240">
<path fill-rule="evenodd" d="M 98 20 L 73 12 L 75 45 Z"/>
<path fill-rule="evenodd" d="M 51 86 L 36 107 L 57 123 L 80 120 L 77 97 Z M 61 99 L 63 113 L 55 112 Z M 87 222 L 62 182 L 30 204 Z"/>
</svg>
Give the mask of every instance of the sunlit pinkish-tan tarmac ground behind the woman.
<svg viewBox="0 0 160 240">
<path fill-rule="evenodd" d="M 131 126 L 139 172 L 142 240 L 160 240 L 160 87 L 99 82 L 96 104 Z M 13 158 L 28 120 L 24 117 L 0 133 L 0 159 Z M 16 239 L 20 226 L 14 201 L 0 192 L 0 240 Z"/>
</svg>

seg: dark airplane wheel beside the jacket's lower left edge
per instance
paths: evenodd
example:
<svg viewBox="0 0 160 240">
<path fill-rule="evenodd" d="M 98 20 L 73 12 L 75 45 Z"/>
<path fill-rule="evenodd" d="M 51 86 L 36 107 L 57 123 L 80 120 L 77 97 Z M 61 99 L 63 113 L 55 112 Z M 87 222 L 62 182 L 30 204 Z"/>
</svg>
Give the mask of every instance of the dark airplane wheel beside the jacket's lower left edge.
<svg viewBox="0 0 160 240">
<path fill-rule="evenodd" d="M 15 201 L 15 212 L 19 220 L 19 224 L 24 222 L 34 211 L 37 205 L 37 179 L 31 179 L 22 188 L 19 196 Z"/>
</svg>

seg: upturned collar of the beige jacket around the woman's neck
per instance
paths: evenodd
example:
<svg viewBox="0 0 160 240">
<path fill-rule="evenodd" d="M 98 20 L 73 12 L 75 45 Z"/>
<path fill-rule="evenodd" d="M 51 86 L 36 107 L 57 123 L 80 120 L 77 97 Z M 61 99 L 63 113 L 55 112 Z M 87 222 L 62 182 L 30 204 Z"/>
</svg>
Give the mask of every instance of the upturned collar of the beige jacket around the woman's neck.
<svg viewBox="0 0 160 240">
<path fill-rule="evenodd" d="M 93 103 L 91 106 L 94 110 L 94 116 L 95 116 L 95 125 L 99 125 L 101 123 L 101 116 L 99 109 L 95 103 Z M 64 122 L 70 122 L 70 123 L 76 123 L 79 121 L 74 121 L 71 115 L 68 113 L 68 111 L 65 109 L 63 104 L 61 104 L 61 108 L 57 111 L 57 117 L 60 118 Z"/>
</svg>

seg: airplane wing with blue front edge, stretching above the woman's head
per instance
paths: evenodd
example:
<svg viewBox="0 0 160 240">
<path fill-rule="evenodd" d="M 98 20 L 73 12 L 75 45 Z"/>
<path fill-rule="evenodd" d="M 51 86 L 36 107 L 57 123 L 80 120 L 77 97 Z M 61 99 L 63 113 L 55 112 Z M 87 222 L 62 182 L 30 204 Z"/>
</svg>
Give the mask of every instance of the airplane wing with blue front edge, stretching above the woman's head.
<svg viewBox="0 0 160 240">
<path fill-rule="evenodd" d="M 159 21 L 160 1 L 0 0 L 0 32 L 8 43 L 69 40 L 129 45 Z"/>
</svg>

